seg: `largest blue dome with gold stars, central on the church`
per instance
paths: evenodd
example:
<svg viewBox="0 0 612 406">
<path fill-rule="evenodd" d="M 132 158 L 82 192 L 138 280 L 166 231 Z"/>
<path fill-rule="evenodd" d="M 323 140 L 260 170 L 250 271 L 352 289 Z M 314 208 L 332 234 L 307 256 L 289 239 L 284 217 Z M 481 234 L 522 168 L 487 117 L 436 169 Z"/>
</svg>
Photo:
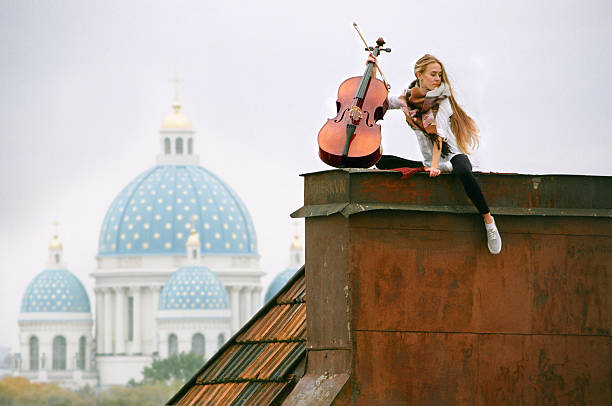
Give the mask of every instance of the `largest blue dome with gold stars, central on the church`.
<svg viewBox="0 0 612 406">
<path fill-rule="evenodd" d="M 229 186 L 201 166 L 158 165 L 115 198 L 98 255 L 186 255 L 192 224 L 202 255 L 257 254 L 251 216 Z"/>
</svg>

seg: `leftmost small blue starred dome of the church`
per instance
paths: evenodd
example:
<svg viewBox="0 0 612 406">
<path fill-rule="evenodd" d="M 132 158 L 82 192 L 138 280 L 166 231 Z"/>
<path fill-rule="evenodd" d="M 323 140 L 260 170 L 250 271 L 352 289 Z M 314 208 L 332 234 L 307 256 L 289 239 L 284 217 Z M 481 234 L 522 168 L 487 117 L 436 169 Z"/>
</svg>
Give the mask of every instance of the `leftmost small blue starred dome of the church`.
<svg viewBox="0 0 612 406">
<path fill-rule="evenodd" d="M 30 282 L 21 312 L 89 313 L 89 297 L 81 281 L 65 269 L 47 269 Z"/>
</svg>

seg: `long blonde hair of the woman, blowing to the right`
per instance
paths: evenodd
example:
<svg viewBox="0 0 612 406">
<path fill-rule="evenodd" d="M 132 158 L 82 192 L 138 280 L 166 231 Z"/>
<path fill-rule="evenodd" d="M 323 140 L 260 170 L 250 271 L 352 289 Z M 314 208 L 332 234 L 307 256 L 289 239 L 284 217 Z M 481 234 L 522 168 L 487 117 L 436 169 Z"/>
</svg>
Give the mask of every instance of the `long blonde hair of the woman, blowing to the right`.
<svg viewBox="0 0 612 406">
<path fill-rule="evenodd" d="M 417 72 L 420 74 L 425 73 L 427 65 L 431 63 L 438 63 L 442 68 L 442 82 L 446 83 L 451 94 L 449 98 L 451 107 L 453 108 L 453 115 L 451 116 L 451 130 L 453 131 L 453 134 L 455 134 L 459 149 L 462 152 L 469 154 L 471 150 L 478 147 L 478 133 L 480 130 L 478 129 L 478 126 L 474 120 L 472 120 L 472 118 L 468 116 L 465 111 L 463 111 L 461 106 L 459 106 L 459 103 L 457 103 L 455 100 L 453 87 L 448 80 L 448 75 L 446 74 L 446 69 L 444 69 L 442 62 L 440 62 L 440 60 L 433 55 L 425 54 L 418 61 L 416 61 L 416 64 L 414 65 L 414 75 L 416 76 Z"/>
</svg>

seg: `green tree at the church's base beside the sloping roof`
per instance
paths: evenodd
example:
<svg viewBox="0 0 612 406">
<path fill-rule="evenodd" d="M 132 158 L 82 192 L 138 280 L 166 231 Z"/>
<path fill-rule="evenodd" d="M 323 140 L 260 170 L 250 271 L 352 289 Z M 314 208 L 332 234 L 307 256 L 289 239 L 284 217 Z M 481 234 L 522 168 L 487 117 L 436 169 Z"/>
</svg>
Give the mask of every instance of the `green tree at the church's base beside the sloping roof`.
<svg viewBox="0 0 612 406">
<path fill-rule="evenodd" d="M 143 383 L 187 382 L 204 365 L 204 356 L 192 352 L 171 355 L 166 359 L 153 361 L 142 370 Z"/>
</svg>

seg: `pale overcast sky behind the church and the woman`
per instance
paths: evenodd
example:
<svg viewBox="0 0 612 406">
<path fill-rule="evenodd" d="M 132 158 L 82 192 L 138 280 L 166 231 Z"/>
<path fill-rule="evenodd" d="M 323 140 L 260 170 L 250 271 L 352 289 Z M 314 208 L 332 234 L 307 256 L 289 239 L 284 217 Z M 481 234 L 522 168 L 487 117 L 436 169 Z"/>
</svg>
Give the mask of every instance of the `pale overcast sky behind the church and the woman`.
<svg viewBox="0 0 612 406">
<path fill-rule="evenodd" d="M 53 220 L 93 298 L 104 214 L 154 165 L 175 74 L 201 164 L 250 210 L 270 278 L 288 263 L 299 174 L 327 169 L 316 135 L 337 87 L 364 70 L 353 21 L 392 48 L 393 94 L 424 53 L 445 63 L 481 128 L 481 170 L 611 175 L 611 4 L 0 1 L 0 346 L 18 351 Z M 385 153 L 420 158 L 401 113 L 382 134 Z"/>
</svg>

